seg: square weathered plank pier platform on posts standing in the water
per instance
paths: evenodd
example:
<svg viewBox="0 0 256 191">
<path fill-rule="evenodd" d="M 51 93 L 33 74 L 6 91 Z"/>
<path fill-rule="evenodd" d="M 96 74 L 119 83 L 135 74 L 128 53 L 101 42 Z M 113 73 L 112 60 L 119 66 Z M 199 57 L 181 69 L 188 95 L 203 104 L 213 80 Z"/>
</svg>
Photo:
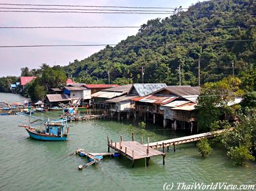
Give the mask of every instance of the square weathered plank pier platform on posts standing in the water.
<svg viewBox="0 0 256 191">
<path fill-rule="evenodd" d="M 134 161 L 145 158 L 145 165 L 148 165 L 150 157 L 156 157 L 159 155 L 163 156 L 163 164 L 164 164 L 164 145 L 163 145 L 163 152 L 157 151 L 156 149 L 152 149 L 149 147 L 149 138 L 147 146 L 140 144 L 139 142 L 134 141 L 133 134 L 132 134 L 132 141 L 123 141 L 123 137 L 120 136 L 120 142 L 113 142 L 112 140 L 109 141 L 108 139 L 108 152 L 109 148 L 118 151 L 121 155 L 132 160 L 132 167 L 134 167 Z"/>
</svg>

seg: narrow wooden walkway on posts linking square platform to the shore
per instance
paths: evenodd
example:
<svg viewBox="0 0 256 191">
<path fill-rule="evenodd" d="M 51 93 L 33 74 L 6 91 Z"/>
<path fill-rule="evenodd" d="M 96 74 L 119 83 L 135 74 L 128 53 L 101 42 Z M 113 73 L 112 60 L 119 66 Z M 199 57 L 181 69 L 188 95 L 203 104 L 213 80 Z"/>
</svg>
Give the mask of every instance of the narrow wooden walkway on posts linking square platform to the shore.
<svg viewBox="0 0 256 191">
<path fill-rule="evenodd" d="M 230 128 L 229 131 L 231 131 L 231 130 L 233 130 L 233 128 Z M 218 130 L 216 132 L 207 132 L 204 134 L 189 135 L 186 137 L 179 137 L 179 138 L 168 139 L 168 140 L 164 140 L 164 141 L 150 142 L 149 147 L 158 149 L 158 148 L 163 147 L 163 145 L 164 146 L 172 146 L 172 145 L 175 146 L 175 144 L 182 144 L 182 143 L 186 143 L 186 142 L 198 141 L 198 140 L 204 139 L 204 138 L 214 137 L 214 136 L 221 134 L 225 131 L 226 130 Z M 147 146 L 147 144 L 144 144 L 144 146 Z"/>
</svg>

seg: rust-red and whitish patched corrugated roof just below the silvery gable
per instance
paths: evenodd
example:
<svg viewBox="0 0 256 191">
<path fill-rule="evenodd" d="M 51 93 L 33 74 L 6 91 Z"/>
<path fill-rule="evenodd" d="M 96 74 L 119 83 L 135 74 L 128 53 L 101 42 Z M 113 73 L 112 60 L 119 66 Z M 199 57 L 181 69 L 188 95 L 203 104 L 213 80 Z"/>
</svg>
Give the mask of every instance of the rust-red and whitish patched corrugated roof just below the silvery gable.
<svg viewBox="0 0 256 191">
<path fill-rule="evenodd" d="M 147 102 L 147 103 L 155 103 L 159 105 L 164 105 L 167 103 L 172 102 L 178 98 L 178 96 L 175 95 L 169 95 L 169 94 L 154 94 L 154 95 L 148 95 L 148 96 L 143 96 L 139 98 L 134 98 L 132 100 L 137 101 L 137 102 Z"/>
</svg>

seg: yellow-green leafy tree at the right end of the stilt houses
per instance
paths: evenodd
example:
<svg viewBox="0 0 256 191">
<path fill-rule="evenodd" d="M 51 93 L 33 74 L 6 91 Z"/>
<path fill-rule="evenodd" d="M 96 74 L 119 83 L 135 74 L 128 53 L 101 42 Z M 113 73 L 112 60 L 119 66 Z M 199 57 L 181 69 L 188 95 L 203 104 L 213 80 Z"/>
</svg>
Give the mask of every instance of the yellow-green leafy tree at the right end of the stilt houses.
<svg viewBox="0 0 256 191">
<path fill-rule="evenodd" d="M 198 126 L 201 130 L 210 130 L 211 124 L 223 115 L 235 114 L 239 107 L 228 103 L 234 101 L 236 96 L 243 95 L 243 90 L 239 88 L 240 84 L 241 80 L 237 77 L 228 77 L 202 86 L 196 106 Z"/>
</svg>

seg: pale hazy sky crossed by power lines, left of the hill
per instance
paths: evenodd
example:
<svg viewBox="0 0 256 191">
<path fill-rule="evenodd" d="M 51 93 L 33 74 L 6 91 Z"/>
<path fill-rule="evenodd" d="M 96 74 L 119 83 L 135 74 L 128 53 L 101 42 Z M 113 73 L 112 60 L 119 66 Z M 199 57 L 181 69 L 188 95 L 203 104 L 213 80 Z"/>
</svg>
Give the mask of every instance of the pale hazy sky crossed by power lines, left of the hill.
<svg viewBox="0 0 256 191">
<path fill-rule="evenodd" d="M 13 4 L 71 4 L 96 6 L 147 6 L 188 8 L 198 0 L 0 0 Z M 4 7 L 8 6 L 0 4 Z M 25 6 L 23 6 L 25 7 Z M 1 10 L 1 9 L 0 9 Z M 169 15 L 87 14 L 87 13 L 18 13 L 0 12 L 0 27 L 26 26 L 141 26 L 150 19 Z M 0 46 L 116 44 L 138 28 L 121 29 L 0 29 Z M 42 63 L 65 66 L 81 60 L 104 47 L 22 47 L 0 48 L 0 77 L 20 75 L 20 68 L 38 68 Z"/>
</svg>

